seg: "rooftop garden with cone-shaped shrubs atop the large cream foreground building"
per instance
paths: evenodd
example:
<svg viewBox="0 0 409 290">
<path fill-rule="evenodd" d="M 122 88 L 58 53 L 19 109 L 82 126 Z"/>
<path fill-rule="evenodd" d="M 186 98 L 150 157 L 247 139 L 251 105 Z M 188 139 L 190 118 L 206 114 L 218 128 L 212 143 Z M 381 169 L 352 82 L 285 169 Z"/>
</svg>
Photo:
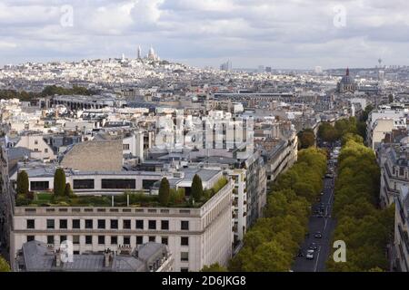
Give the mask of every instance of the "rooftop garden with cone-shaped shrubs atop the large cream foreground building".
<svg viewBox="0 0 409 290">
<path fill-rule="evenodd" d="M 58 170 L 58 169 L 57 169 Z M 197 176 L 192 184 L 191 196 L 185 195 L 185 189 L 170 189 L 167 179 L 161 181 L 158 195 L 149 195 L 141 191 L 126 190 L 121 195 L 76 195 L 70 184 L 65 183 L 61 172 L 55 175 L 54 192 L 28 191 L 28 179 L 24 171 L 17 177 L 17 207 L 143 207 L 143 208 L 201 208 L 210 198 L 227 184 L 227 179 L 219 179 L 212 189 L 203 189 L 202 180 Z M 58 185 L 58 183 L 61 183 Z M 65 184 L 63 186 L 62 184 Z M 129 199 L 129 200 L 128 200 Z"/>
</svg>

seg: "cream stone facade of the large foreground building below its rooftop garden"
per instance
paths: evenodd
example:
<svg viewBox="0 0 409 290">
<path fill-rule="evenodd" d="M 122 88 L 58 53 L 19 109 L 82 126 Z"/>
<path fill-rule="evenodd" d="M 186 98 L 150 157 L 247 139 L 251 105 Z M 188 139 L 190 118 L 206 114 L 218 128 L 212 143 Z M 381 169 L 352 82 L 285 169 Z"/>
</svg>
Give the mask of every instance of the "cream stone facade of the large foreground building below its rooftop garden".
<svg viewBox="0 0 409 290">
<path fill-rule="evenodd" d="M 16 207 L 11 256 L 32 240 L 55 248 L 70 240 L 75 254 L 156 242 L 169 247 L 175 271 L 226 266 L 232 256 L 233 189 L 229 181 L 201 208 Z"/>
</svg>

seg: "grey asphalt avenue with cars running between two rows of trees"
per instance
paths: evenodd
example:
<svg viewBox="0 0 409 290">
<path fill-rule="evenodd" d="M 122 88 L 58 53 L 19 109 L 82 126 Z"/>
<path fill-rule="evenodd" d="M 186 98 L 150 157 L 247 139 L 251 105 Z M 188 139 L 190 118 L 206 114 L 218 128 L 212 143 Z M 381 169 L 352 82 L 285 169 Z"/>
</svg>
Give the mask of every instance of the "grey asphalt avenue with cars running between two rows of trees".
<svg viewBox="0 0 409 290">
<path fill-rule="evenodd" d="M 328 166 L 328 169 L 330 167 Z M 302 256 L 295 257 L 294 272 L 324 272 L 325 263 L 331 253 L 331 236 L 334 231 L 335 221 L 332 218 L 334 203 L 334 179 L 324 179 L 324 195 L 313 205 L 312 216 L 309 220 L 308 235 L 305 237 L 301 247 Z M 322 208 L 322 211 L 320 211 Z M 315 212 L 315 213 L 314 213 Z M 316 233 L 321 233 L 322 237 L 314 237 Z M 315 244 L 314 258 L 307 259 L 308 248 Z"/>
</svg>

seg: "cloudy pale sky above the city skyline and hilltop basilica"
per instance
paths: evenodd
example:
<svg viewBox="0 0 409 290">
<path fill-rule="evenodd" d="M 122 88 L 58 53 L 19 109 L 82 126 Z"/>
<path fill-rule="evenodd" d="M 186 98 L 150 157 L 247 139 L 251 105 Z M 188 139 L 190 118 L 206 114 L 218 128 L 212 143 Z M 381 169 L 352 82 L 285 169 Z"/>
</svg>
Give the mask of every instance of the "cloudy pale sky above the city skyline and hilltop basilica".
<svg viewBox="0 0 409 290">
<path fill-rule="evenodd" d="M 135 57 L 200 67 L 409 64 L 407 0 L 0 0 L 0 64 Z"/>
</svg>

